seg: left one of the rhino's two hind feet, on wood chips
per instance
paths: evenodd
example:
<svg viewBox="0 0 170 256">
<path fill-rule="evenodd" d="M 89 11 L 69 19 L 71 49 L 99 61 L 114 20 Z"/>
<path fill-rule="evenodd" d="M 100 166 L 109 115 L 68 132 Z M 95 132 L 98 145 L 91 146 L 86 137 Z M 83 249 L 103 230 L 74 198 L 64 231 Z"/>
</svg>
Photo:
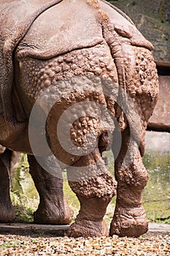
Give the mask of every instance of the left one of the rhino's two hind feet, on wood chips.
<svg viewBox="0 0 170 256">
<path fill-rule="evenodd" d="M 95 222 L 90 220 L 76 220 L 67 230 L 67 236 L 77 237 L 93 237 L 93 236 L 109 236 L 109 229 L 103 221 Z"/>
</svg>

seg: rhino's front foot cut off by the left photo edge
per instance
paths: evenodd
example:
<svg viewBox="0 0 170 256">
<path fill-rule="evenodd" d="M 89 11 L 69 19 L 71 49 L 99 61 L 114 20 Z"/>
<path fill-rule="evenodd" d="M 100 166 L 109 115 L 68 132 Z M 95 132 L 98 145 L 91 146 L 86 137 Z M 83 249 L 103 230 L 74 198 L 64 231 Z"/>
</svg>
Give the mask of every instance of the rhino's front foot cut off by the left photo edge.
<svg viewBox="0 0 170 256">
<path fill-rule="evenodd" d="M 15 220 L 15 210 L 11 203 L 4 205 L 1 205 L 0 203 L 0 222 L 6 223 L 6 222 L 13 222 Z"/>
</svg>

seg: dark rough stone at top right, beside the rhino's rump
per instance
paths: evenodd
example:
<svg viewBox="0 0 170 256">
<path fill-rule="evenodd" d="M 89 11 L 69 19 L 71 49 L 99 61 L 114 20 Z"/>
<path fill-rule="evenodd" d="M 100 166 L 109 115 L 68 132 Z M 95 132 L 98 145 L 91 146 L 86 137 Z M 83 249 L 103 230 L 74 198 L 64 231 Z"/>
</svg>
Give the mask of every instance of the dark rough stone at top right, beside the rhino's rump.
<svg viewBox="0 0 170 256">
<path fill-rule="evenodd" d="M 170 66 L 170 1 L 117 0 L 109 1 L 134 21 L 137 29 L 154 46 L 153 56 L 158 64 Z"/>
</svg>

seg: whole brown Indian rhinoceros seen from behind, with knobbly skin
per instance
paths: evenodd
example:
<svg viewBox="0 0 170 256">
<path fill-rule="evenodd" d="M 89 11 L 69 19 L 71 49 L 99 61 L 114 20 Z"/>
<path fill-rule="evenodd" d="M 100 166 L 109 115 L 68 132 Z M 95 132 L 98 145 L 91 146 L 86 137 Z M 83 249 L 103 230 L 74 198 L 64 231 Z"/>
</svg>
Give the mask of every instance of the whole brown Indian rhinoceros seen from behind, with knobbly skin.
<svg viewBox="0 0 170 256">
<path fill-rule="evenodd" d="M 152 45 L 103 0 L 0 1 L 0 143 L 28 154 L 34 222 L 69 224 L 62 170 L 80 201 L 68 236 L 147 232 L 144 135 L 158 97 Z M 102 152 L 115 154 L 115 179 Z M 15 218 L 1 154 L 0 222 Z M 117 192 L 108 230 L 104 214 Z"/>
</svg>

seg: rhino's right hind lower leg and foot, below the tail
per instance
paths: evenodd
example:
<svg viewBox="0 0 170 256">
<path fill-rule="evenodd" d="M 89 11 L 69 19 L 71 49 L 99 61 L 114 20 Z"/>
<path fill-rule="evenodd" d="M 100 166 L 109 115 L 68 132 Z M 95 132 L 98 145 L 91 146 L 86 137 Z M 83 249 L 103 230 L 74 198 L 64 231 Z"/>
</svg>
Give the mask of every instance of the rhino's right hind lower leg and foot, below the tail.
<svg viewBox="0 0 170 256">
<path fill-rule="evenodd" d="M 148 221 L 142 206 L 142 190 L 148 174 L 142 156 L 129 128 L 122 133 L 120 154 L 115 160 L 117 202 L 110 226 L 110 235 L 141 236 L 147 232 Z"/>
</svg>

